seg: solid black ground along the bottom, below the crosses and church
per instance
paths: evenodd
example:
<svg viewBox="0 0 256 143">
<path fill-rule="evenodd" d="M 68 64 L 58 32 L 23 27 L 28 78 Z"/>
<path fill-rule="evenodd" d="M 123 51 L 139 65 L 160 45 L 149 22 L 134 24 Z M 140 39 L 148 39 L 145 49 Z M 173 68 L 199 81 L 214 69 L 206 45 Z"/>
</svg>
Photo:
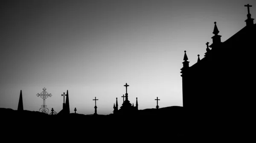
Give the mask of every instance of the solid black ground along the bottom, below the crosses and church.
<svg viewBox="0 0 256 143">
<path fill-rule="evenodd" d="M 168 112 L 171 111 L 172 112 Z M 66 116 L 0 109 L 1 136 L 20 141 L 183 142 L 236 140 L 253 134 L 229 115 L 202 114 L 183 107 L 146 109 L 140 115 Z"/>
</svg>

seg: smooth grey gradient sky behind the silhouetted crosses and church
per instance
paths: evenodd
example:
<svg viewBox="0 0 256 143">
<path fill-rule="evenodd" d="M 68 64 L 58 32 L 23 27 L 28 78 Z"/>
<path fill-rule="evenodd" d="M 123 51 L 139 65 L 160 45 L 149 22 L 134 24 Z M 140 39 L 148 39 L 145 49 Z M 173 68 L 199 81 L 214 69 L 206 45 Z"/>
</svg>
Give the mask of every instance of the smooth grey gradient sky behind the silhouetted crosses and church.
<svg viewBox="0 0 256 143">
<path fill-rule="evenodd" d="M 255 0 L 1 0 L 0 108 L 113 113 L 128 100 L 139 109 L 183 106 L 184 50 L 189 66 L 212 43 L 214 22 L 224 42 L 243 28 Z M 254 20 L 254 23 L 256 21 Z M 209 44 L 209 45 L 210 45 Z"/>
</svg>

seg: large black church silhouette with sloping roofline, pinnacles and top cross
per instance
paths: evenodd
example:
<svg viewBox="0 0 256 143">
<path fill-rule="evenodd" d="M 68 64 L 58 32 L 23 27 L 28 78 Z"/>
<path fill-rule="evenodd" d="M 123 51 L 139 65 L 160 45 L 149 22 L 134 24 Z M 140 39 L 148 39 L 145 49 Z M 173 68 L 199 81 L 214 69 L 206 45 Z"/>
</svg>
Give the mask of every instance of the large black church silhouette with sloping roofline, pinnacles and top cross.
<svg viewBox="0 0 256 143">
<path fill-rule="evenodd" d="M 185 50 L 180 72 L 184 108 L 218 113 L 252 109 L 254 90 L 248 80 L 255 81 L 256 24 L 251 18 L 251 6 L 245 6 L 248 11 L 246 25 L 226 41 L 221 42 L 217 22 L 214 22 L 212 44 L 206 43 L 204 58 L 200 60 L 198 55 L 198 62 L 189 66 Z"/>
</svg>

